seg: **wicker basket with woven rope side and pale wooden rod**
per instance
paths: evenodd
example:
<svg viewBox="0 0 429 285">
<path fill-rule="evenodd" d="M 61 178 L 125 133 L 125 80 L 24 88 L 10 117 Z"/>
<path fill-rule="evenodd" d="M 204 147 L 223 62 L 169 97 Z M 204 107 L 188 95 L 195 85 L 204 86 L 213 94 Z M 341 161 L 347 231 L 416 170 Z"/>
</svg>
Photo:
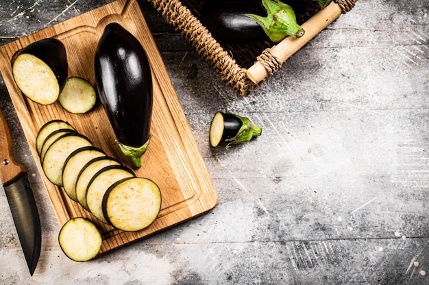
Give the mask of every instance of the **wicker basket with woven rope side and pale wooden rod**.
<svg viewBox="0 0 429 285">
<path fill-rule="evenodd" d="M 221 44 L 198 20 L 201 1 L 147 0 L 162 14 L 164 21 L 193 46 L 197 55 L 219 74 L 237 94 L 252 93 L 265 79 L 282 67 L 286 59 L 317 36 L 341 14 L 349 12 L 357 0 L 334 0 L 326 8 L 303 20 L 306 33 L 301 38 L 287 37 L 272 42 Z M 299 23 L 299 22 L 298 22 Z"/>
</svg>

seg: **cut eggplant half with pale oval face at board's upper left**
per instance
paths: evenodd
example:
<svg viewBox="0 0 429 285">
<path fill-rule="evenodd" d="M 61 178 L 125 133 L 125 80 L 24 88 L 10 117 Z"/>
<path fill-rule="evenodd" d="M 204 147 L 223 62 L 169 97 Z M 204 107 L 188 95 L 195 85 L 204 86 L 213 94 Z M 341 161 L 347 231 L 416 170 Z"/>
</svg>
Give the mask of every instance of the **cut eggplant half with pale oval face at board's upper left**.
<svg viewBox="0 0 429 285">
<path fill-rule="evenodd" d="M 60 95 L 69 68 L 64 44 L 45 38 L 25 46 L 12 63 L 16 85 L 30 100 L 42 105 L 54 103 Z"/>
</svg>

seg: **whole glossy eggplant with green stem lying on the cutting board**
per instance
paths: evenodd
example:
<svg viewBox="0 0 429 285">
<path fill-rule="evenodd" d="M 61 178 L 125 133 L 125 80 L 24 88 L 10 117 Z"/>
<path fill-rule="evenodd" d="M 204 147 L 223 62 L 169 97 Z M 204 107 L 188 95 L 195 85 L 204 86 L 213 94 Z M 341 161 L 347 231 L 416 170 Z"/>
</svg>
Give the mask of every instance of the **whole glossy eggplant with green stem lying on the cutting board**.
<svg viewBox="0 0 429 285">
<path fill-rule="evenodd" d="M 95 78 L 117 143 L 140 167 L 150 139 L 151 69 L 143 46 L 118 23 L 108 24 L 99 40 Z"/>
</svg>

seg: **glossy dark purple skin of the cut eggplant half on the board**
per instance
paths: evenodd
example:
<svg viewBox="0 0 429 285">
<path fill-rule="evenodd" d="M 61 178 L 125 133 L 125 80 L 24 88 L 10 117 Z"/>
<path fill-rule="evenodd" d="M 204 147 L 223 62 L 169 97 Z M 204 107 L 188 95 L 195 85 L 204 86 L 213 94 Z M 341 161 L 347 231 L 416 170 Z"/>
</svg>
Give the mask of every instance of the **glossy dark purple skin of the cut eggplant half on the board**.
<svg viewBox="0 0 429 285">
<path fill-rule="evenodd" d="M 69 76 L 69 64 L 64 44 L 56 38 L 45 38 L 25 46 L 19 54 L 23 53 L 38 57 L 51 68 L 61 92 Z"/>
</svg>

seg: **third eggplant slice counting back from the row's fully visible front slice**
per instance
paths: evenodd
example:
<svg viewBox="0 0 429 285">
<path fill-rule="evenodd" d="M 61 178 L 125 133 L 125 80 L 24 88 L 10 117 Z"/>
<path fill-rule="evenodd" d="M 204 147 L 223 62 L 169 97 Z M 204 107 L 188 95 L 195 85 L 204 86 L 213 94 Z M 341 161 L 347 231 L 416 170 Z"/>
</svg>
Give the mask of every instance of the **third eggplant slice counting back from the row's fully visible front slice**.
<svg viewBox="0 0 429 285">
<path fill-rule="evenodd" d="M 79 174 L 77 174 L 76 198 L 79 204 L 86 208 L 86 210 L 89 211 L 88 203 L 86 202 L 86 190 L 88 189 L 90 180 L 100 169 L 110 165 L 121 165 L 121 163 L 112 157 L 97 157 L 88 161 L 88 163 L 82 167 Z"/>
</svg>

